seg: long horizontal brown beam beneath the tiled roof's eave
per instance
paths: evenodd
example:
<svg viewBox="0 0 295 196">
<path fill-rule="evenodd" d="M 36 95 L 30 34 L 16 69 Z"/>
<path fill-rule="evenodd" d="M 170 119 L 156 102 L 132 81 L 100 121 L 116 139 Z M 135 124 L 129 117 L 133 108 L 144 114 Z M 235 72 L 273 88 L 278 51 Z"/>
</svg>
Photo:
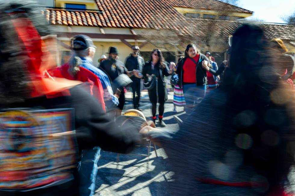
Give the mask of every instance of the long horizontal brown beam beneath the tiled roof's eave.
<svg viewBox="0 0 295 196">
<path fill-rule="evenodd" d="M 79 35 L 81 33 L 73 32 L 55 32 L 58 38 L 72 38 L 75 35 Z M 101 34 L 101 33 L 83 33 L 83 35 L 87 35 L 93 39 L 138 39 L 137 35 L 124 35 L 124 34 Z"/>
</svg>

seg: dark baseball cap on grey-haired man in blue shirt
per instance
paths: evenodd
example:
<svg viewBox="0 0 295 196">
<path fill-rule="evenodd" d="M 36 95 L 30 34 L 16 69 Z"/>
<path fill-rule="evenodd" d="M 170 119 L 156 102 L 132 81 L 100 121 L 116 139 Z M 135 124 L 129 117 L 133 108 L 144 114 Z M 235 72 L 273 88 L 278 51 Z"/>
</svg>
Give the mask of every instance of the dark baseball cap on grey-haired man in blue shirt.
<svg viewBox="0 0 295 196">
<path fill-rule="evenodd" d="M 96 48 L 92 39 L 87 35 L 76 35 L 73 37 L 71 40 L 71 47 L 73 50 L 85 50 L 89 47 Z"/>
</svg>

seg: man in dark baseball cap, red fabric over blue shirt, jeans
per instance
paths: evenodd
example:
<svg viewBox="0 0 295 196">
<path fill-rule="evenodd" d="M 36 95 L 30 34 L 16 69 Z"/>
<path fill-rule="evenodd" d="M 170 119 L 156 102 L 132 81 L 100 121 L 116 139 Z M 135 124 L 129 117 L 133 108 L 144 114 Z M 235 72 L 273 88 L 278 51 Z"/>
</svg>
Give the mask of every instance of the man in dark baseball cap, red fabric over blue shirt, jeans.
<svg viewBox="0 0 295 196">
<path fill-rule="evenodd" d="M 110 104 L 113 105 L 113 100 L 115 100 L 113 99 L 113 95 L 111 95 L 113 92 L 109 92 L 109 90 L 106 88 L 106 86 L 110 86 L 108 78 L 100 70 L 96 70 L 97 73 L 100 74 L 100 77 L 98 77 L 88 69 L 84 68 L 87 66 L 92 66 L 90 64 L 94 57 L 96 47 L 93 44 L 91 38 L 86 35 L 76 35 L 74 38 L 72 38 L 71 43 L 72 56 L 69 62 L 48 71 L 48 73 L 53 77 L 84 82 L 81 86 L 98 100 L 98 103 L 105 111 L 106 108 L 104 97 L 108 98 L 108 107 L 110 107 Z M 101 80 L 103 81 L 104 87 L 106 88 L 105 91 L 102 87 Z M 94 193 L 100 151 L 101 148 L 99 146 L 95 146 L 92 149 L 87 149 L 81 152 L 81 161 L 79 162 L 78 168 L 81 182 L 81 195 L 91 195 Z M 91 194 L 89 193 L 89 189 L 91 190 Z"/>
</svg>

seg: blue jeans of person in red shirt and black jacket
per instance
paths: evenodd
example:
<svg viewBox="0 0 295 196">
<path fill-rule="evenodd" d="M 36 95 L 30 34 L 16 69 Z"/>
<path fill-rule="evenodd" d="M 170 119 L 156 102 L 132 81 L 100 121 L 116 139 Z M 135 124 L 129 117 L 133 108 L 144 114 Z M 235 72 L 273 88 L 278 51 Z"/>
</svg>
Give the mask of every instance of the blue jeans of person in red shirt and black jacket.
<svg viewBox="0 0 295 196">
<path fill-rule="evenodd" d="M 196 84 L 184 84 L 182 89 L 185 97 L 185 104 L 188 107 L 200 103 L 206 94 L 206 84 L 203 86 L 197 86 Z"/>
</svg>

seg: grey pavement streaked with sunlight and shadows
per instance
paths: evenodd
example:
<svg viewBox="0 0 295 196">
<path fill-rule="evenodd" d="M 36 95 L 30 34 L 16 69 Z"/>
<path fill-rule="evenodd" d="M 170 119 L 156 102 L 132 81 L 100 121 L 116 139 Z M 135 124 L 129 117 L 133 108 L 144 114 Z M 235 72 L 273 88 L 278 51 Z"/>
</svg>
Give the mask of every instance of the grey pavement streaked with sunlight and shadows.
<svg viewBox="0 0 295 196">
<path fill-rule="evenodd" d="M 141 108 L 146 117 L 151 116 L 151 104 L 141 102 Z M 132 102 L 126 102 L 124 109 L 132 109 Z M 177 129 L 172 115 L 181 116 L 183 107 L 177 107 L 177 113 L 173 112 L 173 104 L 165 104 L 164 120 L 169 129 Z M 140 147 L 135 154 L 147 154 L 147 148 Z M 116 162 L 117 154 L 101 151 L 98 161 L 98 175 L 96 178 L 96 196 L 168 196 L 166 183 L 171 179 L 172 172 L 166 169 L 167 156 L 163 149 L 157 149 L 156 157 L 154 149 L 151 150 L 149 162 L 147 157 L 140 155 L 120 154 L 119 162 Z"/>
</svg>

